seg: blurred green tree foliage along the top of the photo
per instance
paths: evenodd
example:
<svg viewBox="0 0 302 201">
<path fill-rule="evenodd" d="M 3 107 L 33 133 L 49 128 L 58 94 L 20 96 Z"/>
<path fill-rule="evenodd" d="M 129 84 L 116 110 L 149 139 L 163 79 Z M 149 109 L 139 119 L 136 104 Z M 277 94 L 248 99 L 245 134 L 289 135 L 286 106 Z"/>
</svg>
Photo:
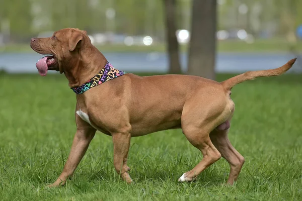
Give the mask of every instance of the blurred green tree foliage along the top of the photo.
<svg viewBox="0 0 302 201">
<path fill-rule="evenodd" d="M 44 31 L 76 27 L 91 33 L 113 31 L 127 35 L 165 37 L 164 0 L 0 0 L 0 30 L 3 21 L 10 22 L 11 42 L 24 42 Z M 177 0 L 177 29 L 191 27 L 191 0 Z M 223 1 L 221 1 L 223 2 Z M 246 4 L 247 16 L 238 14 Z M 246 29 L 258 36 L 252 26 L 252 13 L 261 5 L 261 31 L 270 30 L 284 37 L 302 24 L 300 0 L 225 0 L 219 5 L 218 29 Z M 115 9 L 115 20 L 106 20 L 106 10 Z M 246 20 L 248 19 L 248 20 Z M 4 30 L 1 30 L 4 31 Z"/>
</svg>

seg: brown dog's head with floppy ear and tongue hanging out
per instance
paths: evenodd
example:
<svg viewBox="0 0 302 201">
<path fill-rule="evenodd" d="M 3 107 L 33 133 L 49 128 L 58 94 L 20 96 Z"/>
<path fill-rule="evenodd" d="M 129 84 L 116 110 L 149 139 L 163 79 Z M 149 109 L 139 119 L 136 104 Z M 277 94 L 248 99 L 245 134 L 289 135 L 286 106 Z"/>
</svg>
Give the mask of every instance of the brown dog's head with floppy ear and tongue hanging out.
<svg viewBox="0 0 302 201">
<path fill-rule="evenodd" d="M 90 38 L 86 31 L 79 29 L 66 28 L 54 32 L 49 38 L 32 38 L 30 47 L 47 56 L 40 59 L 37 63 L 37 69 L 42 76 L 45 76 L 47 70 L 56 70 L 63 73 L 64 70 L 77 65 L 81 49 L 92 46 Z"/>
</svg>

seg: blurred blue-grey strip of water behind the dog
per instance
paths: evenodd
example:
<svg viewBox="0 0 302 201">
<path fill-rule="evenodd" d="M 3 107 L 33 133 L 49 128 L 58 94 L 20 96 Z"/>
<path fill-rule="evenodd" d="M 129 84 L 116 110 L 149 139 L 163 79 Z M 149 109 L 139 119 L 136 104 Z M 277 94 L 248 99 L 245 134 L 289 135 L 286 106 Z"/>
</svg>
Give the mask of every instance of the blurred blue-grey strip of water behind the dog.
<svg viewBox="0 0 302 201">
<path fill-rule="evenodd" d="M 104 55 L 114 67 L 127 72 L 168 72 L 168 57 L 165 53 L 104 53 Z M 41 57 L 42 55 L 38 53 L 2 53 L 0 69 L 9 73 L 37 73 L 35 63 Z M 282 66 L 292 58 L 295 58 L 295 55 L 284 53 L 218 53 L 215 70 L 218 73 L 266 70 Z M 181 55 L 181 63 L 183 70 L 186 71 L 186 54 Z M 290 71 L 302 72 L 302 68 L 295 63 Z"/>
</svg>

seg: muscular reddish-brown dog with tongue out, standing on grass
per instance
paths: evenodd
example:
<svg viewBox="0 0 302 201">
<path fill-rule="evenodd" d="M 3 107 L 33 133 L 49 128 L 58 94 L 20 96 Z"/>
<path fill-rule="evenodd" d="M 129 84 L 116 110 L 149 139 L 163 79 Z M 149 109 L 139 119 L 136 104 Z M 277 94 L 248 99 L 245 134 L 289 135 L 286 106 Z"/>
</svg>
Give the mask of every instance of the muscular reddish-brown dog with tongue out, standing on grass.
<svg viewBox="0 0 302 201">
<path fill-rule="evenodd" d="M 52 55 L 37 63 L 40 74 L 46 75 L 47 70 L 64 73 L 70 87 L 86 83 L 107 63 L 86 31 L 79 29 L 62 29 L 50 38 L 32 38 L 31 48 Z M 140 77 L 129 73 L 77 94 L 77 133 L 61 175 L 50 186 L 64 184 L 72 176 L 97 130 L 112 136 L 114 167 L 131 182 L 127 166 L 130 138 L 175 128 L 181 128 L 203 154 L 203 159 L 179 181 L 192 181 L 222 156 L 230 163 L 228 183 L 233 184 L 244 157 L 228 139 L 235 109 L 231 89 L 256 77 L 281 75 L 294 62 L 292 59 L 276 69 L 246 72 L 220 83 L 188 75 Z"/>
</svg>

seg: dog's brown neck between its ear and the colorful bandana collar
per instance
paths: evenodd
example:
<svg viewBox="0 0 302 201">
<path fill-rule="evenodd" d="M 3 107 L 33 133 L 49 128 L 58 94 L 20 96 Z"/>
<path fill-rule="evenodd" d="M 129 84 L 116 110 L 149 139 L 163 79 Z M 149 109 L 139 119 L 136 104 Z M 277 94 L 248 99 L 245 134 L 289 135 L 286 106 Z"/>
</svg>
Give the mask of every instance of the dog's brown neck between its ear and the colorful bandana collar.
<svg viewBox="0 0 302 201">
<path fill-rule="evenodd" d="M 105 56 L 96 47 L 85 48 L 85 50 L 85 54 L 79 52 L 80 56 L 77 61 L 66 64 L 68 68 L 64 69 L 64 74 L 68 79 L 69 87 L 84 84 L 99 73 L 107 63 Z M 85 57 L 85 55 L 89 55 L 89 57 Z M 95 56 L 91 57 L 91 55 Z"/>
</svg>

